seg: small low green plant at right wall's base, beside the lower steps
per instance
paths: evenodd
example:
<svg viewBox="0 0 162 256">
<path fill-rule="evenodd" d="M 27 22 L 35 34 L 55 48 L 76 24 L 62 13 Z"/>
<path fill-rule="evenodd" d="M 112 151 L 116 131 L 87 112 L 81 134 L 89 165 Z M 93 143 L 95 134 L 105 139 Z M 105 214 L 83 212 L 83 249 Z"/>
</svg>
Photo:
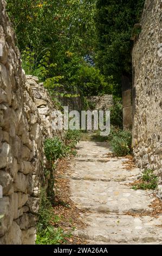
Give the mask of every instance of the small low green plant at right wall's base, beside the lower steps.
<svg viewBox="0 0 162 256">
<path fill-rule="evenodd" d="M 155 190 L 158 186 L 158 177 L 151 169 L 145 169 L 139 183 L 133 186 L 133 190 Z"/>
</svg>

